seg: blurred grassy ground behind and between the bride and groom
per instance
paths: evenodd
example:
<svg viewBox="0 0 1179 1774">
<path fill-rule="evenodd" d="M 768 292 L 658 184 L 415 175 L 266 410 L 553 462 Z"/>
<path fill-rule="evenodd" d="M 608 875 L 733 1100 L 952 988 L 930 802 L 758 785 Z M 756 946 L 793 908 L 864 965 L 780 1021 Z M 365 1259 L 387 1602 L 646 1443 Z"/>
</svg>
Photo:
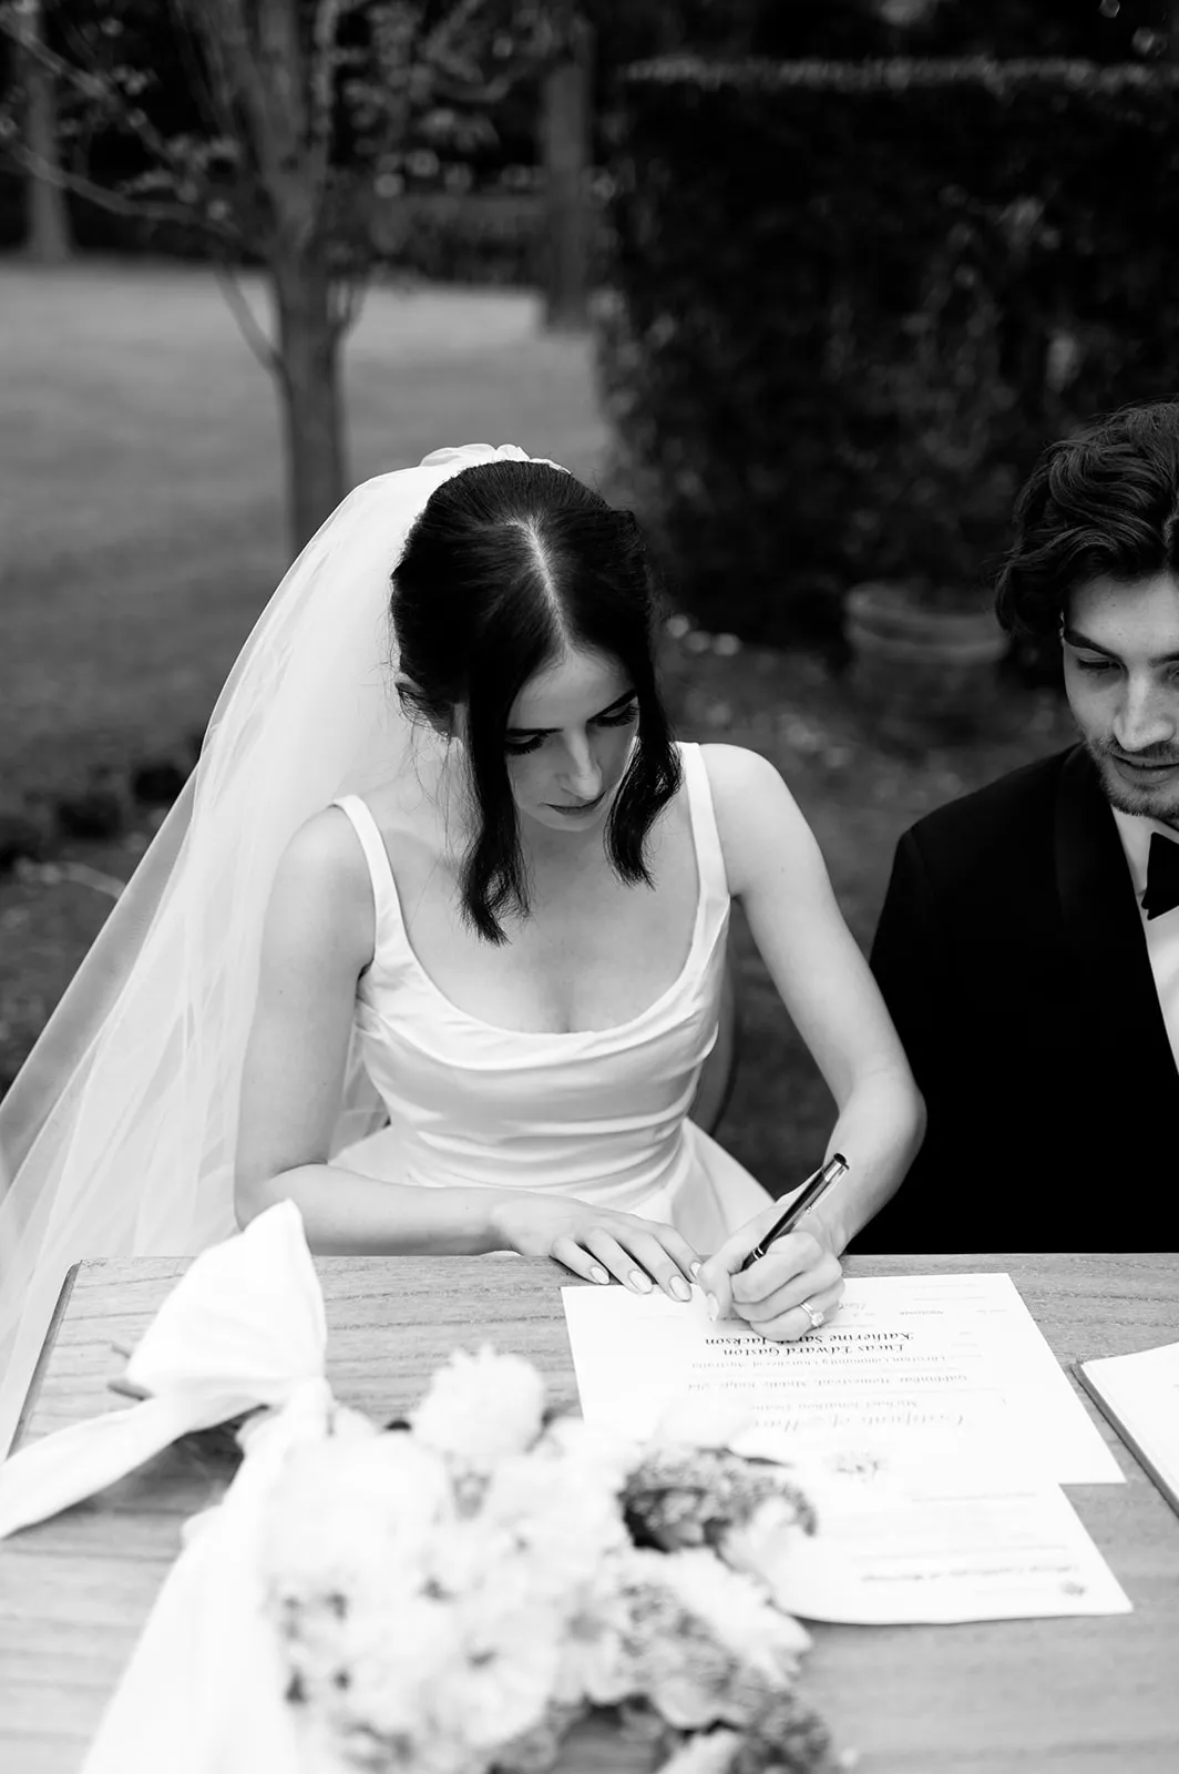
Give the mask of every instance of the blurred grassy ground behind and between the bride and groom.
<svg viewBox="0 0 1179 1774">
<path fill-rule="evenodd" d="M 0 263 L 0 312 L 4 809 L 179 749 L 287 559 L 275 396 L 209 275 Z M 347 403 L 356 481 L 472 440 L 592 479 L 605 444 L 589 344 L 543 337 L 518 293 L 374 291 Z M 1069 736 L 1051 699 L 1009 692 L 986 743 L 899 761 L 816 660 L 675 649 L 670 663 L 684 736 L 782 768 L 863 946 L 901 830 Z M 71 853 L 126 876 L 147 837 Z M 108 907 L 87 887 L 0 882 L 0 1087 Z M 830 1100 L 741 928 L 736 953 L 745 1043 L 723 1137 L 777 1192 L 814 1166 Z"/>
</svg>

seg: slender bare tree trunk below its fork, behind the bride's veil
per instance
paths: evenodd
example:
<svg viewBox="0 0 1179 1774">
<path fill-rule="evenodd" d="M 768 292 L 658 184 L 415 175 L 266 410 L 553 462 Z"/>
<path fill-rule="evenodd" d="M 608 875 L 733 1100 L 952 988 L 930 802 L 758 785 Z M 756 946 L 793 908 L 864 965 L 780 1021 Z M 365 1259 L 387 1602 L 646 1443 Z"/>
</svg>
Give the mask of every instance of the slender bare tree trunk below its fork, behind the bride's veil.
<svg viewBox="0 0 1179 1774">
<path fill-rule="evenodd" d="M 344 497 L 340 335 L 314 245 L 271 266 L 278 321 L 278 392 L 294 557 Z"/>
</svg>

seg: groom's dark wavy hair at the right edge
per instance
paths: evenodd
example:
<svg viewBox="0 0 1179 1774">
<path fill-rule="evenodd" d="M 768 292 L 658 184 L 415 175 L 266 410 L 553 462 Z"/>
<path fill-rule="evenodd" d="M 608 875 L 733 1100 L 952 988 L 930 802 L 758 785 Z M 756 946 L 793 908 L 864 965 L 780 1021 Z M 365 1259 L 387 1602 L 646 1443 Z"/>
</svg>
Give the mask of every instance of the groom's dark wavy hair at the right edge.
<svg viewBox="0 0 1179 1774">
<path fill-rule="evenodd" d="M 1179 399 L 1126 406 L 1051 444 L 1014 518 L 995 600 L 1009 633 L 1053 635 L 1087 578 L 1179 573 Z"/>
</svg>

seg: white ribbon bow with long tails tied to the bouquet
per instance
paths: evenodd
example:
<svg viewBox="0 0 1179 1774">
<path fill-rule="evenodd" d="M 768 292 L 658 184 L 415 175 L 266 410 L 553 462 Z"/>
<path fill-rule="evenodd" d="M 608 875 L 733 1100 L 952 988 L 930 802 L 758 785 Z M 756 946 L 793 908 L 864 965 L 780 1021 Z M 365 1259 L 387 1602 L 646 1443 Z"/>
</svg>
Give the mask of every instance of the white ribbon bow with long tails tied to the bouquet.
<svg viewBox="0 0 1179 1774">
<path fill-rule="evenodd" d="M 195 1258 L 128 1378 L 152 1396 L 46 1435 L 0 1467 L 0 1536 L 94 1495 L 168 1442 L 266 1407 L 222 1503 L 188 1524 L 82 1774 L 287 1774 L 300 1765 L 259 1533 L 291 1449 L 332 1419 L 323 1293 L 282 1201 Z M 195 1531 L 193 1531 L 195 1529 Z"/>
</svg>

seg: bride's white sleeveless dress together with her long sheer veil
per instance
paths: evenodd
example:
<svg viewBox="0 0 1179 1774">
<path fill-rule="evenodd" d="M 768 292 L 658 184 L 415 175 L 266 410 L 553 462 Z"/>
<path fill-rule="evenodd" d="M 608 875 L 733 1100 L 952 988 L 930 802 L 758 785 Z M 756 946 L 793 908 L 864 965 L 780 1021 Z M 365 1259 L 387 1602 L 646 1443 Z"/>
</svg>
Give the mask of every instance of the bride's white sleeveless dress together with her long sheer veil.
<svg viewBox="0 0 1179 1774">
<path fill-rule="evenodd" d="M 376 896 L 333 1162 L 426 1187 L 578 1194 L 670 1219 L 700 1252 L 766 1206 L 688 1119 L 716 1041 L 729 928 L 697 747 L 683 747 L 695 931 L 679 977 L 642 1015 L 578 1034 L 489 1027 L 443 997 L 406 940 L 363 800 L 410 766 L 418 738 L 395 695 L 390 562 L 452 474 L 528 459 L 514 445 L 434 451 L 365 481 L 328 518 L 255 623 L 197 770 L 0 1103 L 0 1458 L 69 1265 L 195 1254 L 234 1233 L 269 885 L 328 804 L 353 820 Z"/>
</svg>

